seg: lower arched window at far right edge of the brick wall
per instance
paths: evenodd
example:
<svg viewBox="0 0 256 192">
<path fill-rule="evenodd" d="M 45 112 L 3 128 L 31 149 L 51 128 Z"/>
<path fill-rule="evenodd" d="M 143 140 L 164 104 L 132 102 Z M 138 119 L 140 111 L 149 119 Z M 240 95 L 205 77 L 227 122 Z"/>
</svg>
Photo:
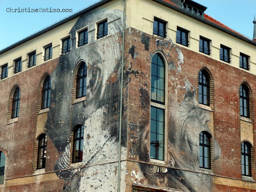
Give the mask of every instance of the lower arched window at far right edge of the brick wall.
<svg viewBox="0 0 256 192">
<path fill-rule="evenodd" d="M 251 176 L 251 145 L 242 142 L 242 175 Z"/>
</svg>

